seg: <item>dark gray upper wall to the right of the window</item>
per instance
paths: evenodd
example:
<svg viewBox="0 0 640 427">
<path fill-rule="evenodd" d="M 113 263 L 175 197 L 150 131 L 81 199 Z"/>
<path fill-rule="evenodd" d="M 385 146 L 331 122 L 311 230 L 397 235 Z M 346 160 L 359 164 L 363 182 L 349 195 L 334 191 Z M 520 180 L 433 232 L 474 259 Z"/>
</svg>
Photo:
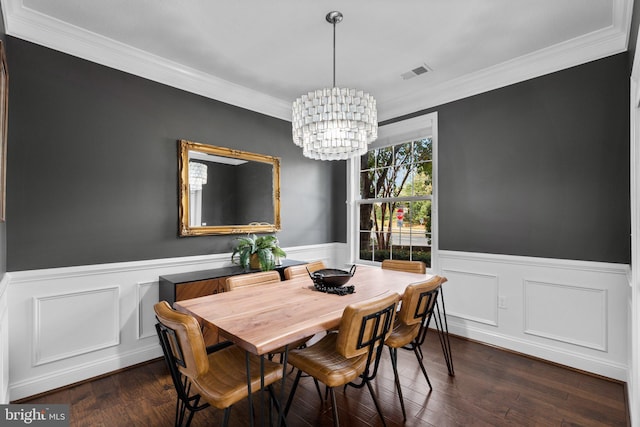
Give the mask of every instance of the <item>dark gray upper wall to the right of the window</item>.
<svg viewBox="0 0 640 427">
<path fill-rule="evenodd" d="M 628 263 L 628 109 L 623 53 L 412 115 L 438 111 L 440 248 Z"/>
</svg>

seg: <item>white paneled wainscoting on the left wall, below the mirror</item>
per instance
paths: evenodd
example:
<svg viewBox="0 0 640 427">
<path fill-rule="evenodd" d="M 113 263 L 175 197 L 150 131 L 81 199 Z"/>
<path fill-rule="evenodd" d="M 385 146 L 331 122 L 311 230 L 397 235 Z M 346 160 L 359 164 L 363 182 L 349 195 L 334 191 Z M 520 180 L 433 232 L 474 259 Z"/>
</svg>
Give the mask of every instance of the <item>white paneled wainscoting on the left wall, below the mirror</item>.
<svg viewBox="0 0 640 427">
<path fill-rule="evenodd" d="M 284 249 L 290 259 L 336 266 L 344 246 Z M 2 403 L 161 357 L 153 312 L 158 277 L 229 266 L 230 256 L 8 273 L 0 294 Z"/>
</svg>

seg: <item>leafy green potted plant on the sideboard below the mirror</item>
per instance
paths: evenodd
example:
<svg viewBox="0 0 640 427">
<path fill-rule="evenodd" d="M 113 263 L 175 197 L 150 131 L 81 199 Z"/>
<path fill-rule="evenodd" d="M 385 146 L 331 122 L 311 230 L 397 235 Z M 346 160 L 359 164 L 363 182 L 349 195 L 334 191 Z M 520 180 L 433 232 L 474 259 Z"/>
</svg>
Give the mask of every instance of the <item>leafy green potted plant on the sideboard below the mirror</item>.
<svg viewBox="0 0 640 427">
<path fill-rule="evenodd" d="M 287 256 L 280 248 L 278 238 L 273 235 L 256 237 L 255 234 L 250 234 L 236 240 L 238 243 L 231 254 L 231 261 L 245 269 L 273 270 L 276 260 Z"/>
</svg>

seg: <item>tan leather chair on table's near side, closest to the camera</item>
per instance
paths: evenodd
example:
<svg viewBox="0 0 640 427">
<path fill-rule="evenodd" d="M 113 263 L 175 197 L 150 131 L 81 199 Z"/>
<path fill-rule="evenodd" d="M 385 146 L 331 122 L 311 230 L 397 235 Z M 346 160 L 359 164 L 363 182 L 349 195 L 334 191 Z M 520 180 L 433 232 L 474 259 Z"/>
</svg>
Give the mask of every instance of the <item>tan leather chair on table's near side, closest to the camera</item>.
<svg viewBox="0 0 640 427">
<path fill-rule="evenodd" d="M 348 305 L 342 313 L 337 333 L 329 333 L 309 347 L 289 352 L 289 363 L 298 369 L 298 373 L 289 393 L 285 416 L 291 407 L 300 377 L 305 372 L 327 386 L 334 426 L 339 425 L 334 388 L 347 384 L 357 388 L 367 386 L 385 424 L 371 381 L 378 372 L 380 355 L 384 341 L 391 332 L 398 299 L 396 293 L 385 293 Z"/>
</svg>

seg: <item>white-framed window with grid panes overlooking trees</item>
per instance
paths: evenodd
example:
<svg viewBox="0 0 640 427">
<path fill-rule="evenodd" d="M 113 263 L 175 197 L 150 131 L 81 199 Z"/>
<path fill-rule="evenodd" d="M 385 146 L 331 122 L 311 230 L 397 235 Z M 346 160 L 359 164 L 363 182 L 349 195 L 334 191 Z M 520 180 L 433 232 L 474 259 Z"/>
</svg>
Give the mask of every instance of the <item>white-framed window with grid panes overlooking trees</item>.
<svg viewBox="0 0 640 427">
<path fill-rule="evenodd" d="M 348 165 L 350 262 L 424 260 L 437 272 L 438 112 L 381 125 L 370 151 Z"/>
</svg>

